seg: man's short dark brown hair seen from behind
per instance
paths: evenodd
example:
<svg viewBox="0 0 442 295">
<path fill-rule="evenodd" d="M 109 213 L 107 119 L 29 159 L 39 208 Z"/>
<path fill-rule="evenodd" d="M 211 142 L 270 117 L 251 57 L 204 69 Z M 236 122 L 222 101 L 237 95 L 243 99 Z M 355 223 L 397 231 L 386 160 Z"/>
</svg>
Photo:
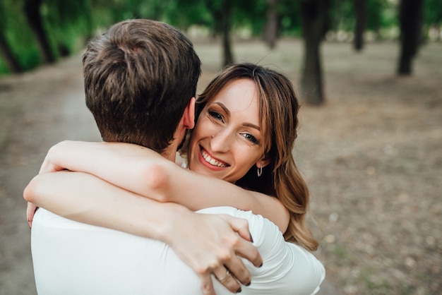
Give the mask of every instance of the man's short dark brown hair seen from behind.
<svg viewBox="0 0 442 295">
<path fill-rule="evenodd" d="M 90 40 L 83 74 L 86 104 L 104 141 L 162 152 L 196 95 L 201 61 L 177 28 L 125 20 Z"/>
</svg>

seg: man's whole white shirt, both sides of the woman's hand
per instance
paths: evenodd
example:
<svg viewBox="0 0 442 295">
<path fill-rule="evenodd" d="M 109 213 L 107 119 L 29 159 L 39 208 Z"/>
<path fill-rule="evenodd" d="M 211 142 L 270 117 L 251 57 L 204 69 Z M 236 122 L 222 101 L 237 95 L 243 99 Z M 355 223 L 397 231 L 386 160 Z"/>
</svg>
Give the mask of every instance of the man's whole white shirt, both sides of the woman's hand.
<svg viewBox="0 0 442 295">
<path fill-rule="evenodd" d="M 325 277 L 308 251 L 284 241 L 268 219 L 234 207 L 199 213 L 229 214 L 249 221 L 262 267 L 241 294 L 315 294 Z M 200 282 L 167 244 L 121 231 L 73 222 L 40 208 L 32 222 L 32 260 L 39 295 L 201 294 Z M 218 295 L 232 294 L 213 277 Z"/>
</svg>

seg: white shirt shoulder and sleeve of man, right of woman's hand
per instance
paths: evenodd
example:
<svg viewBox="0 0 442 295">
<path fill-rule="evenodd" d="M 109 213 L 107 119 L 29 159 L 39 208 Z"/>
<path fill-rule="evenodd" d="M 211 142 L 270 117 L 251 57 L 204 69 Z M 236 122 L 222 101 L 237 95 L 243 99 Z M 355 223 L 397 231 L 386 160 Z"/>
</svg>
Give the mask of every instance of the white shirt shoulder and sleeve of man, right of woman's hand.
<svg viewBox="0 0 442 295">
<path fill-rule="evenodd" d="M 200 211 L 205 214 L 228 214 L 249 221 L 254 245 L 265 261 L 253 270 L 250 286 L 245 294 L 311 295 L 316 294 L 325 277 L 322 263 L 301 246 L 284 240 L 279 229 L 268 219 L 232 207 L 212 207 Z"/>
</svg>

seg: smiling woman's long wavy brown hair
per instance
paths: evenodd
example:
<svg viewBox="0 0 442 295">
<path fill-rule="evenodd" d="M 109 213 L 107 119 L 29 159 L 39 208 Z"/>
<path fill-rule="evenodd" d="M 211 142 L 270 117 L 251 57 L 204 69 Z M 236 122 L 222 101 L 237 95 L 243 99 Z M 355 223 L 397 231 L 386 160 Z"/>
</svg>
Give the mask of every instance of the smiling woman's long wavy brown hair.
<svg viewBox="0 0 442 295">
<path fill-rule="evenodd" d="M 309 208 L 309 189 L 296 164 L 292 150 L 297 138 L 297 114 L 299 102 L 290 80 L 276 71 L 255 64 L 233 64 L 222 70 L 205 88 L 196 102 L 196 118 L 210 100 L 227 83 L 246 78 L 252 80 L 258 90 L 265 150 L 263 155 L 270 164 L 257 176 L 253 165 L 236 184 L 243 188 L 273 195 L 289 210 L 289 227 L 284 234 L 309 251 L 316 251 L 318 241 L 306 226 Z"/>
</svg>

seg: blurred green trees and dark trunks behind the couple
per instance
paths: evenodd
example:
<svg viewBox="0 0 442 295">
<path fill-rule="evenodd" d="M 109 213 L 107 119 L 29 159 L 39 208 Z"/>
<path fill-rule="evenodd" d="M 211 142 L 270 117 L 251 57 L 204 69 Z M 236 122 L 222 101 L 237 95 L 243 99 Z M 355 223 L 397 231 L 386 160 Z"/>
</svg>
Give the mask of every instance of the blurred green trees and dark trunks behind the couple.
<svg viewBox="0 0 442 295">
<path fill-rule="evenodd" d="M 412 74 L 419 47 L 441 41 L 440 0 L 1 0 L 0 73 L 20 73 L 83 49 L 91 36 L 126 18 L 151 18 L 190 37 L 219 37 L 223 65 L 235 61 L 235 37 L 304 40 L 301 96 L 324 102 L 321 42 L 396 40 L 398 75 Z M 220 65 L 222 66 L 222 65 Z"/>
</svg>

